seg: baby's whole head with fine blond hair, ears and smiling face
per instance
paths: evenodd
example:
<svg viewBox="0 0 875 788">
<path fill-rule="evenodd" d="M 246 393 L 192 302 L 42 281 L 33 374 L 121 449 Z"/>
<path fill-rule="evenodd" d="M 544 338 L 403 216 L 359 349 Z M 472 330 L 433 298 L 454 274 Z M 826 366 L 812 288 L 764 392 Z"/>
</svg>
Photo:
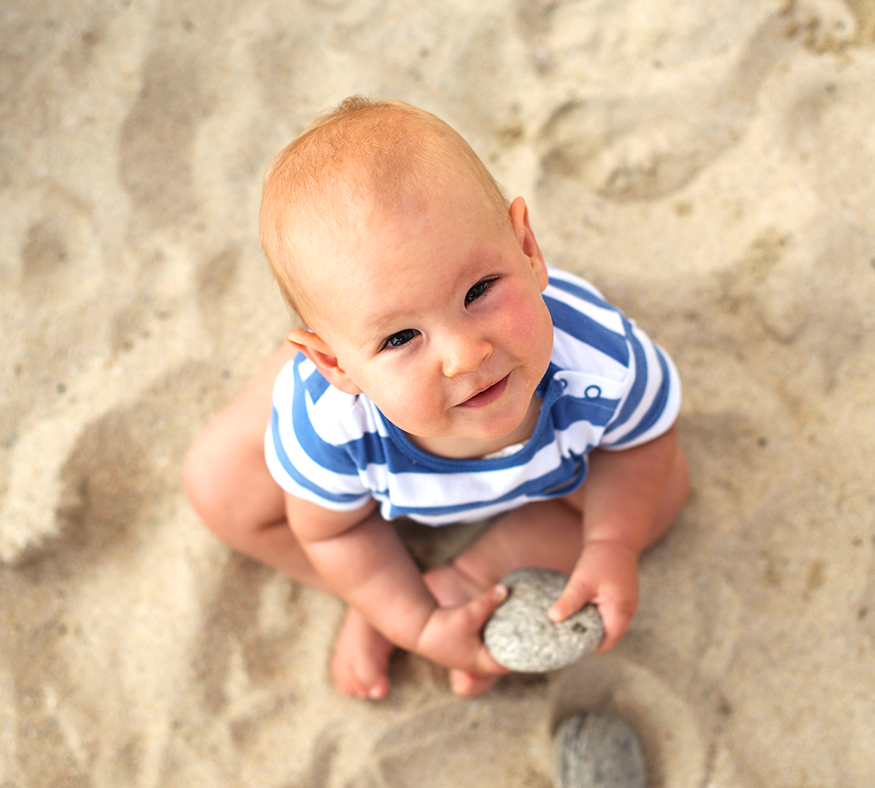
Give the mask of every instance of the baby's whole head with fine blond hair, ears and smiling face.
<svg viewBox="0 0 875 788">
<path fill-rule="evenodd" d="M 287 338 L 333 386 L 446 456 L 528 437 L 553 341 L 546 266 L 524 200 L 508 205 L 445 123 L 344 102 L 274 160 L 261 237 L 307 325 Z"/>
</svg>

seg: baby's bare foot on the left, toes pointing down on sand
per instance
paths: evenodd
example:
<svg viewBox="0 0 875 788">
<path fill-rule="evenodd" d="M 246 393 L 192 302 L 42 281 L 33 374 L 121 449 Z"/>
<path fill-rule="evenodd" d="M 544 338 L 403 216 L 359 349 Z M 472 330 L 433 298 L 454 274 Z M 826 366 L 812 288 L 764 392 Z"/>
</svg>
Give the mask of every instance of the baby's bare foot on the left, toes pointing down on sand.
<svg viewBox="0 0 875 788">
<path fill-rule="evenodd" d="M 389 657 L 395 646 L 350 608 L 334 644 L 331 676 L 338 689 L 358 698 L 380 700 L 389 692 Z"/>
</svg>

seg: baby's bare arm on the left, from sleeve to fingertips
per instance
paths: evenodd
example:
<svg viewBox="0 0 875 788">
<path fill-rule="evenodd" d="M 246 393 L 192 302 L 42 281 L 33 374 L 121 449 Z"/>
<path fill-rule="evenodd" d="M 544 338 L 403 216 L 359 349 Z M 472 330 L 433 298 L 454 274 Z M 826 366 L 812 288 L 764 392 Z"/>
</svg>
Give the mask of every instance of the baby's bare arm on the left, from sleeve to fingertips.
<svg viewBox="0 0 875 788">
<path fill-rule="evenodd" d="M 392 643 L 447 667 L 507 672 L 489 656 L 480 636 L 506 591 L 493 588 L 466 605 L 442 608 L 373 502 L 353 512 L 333 512 L 287 495 L 286 509 L 319 575 Z"/>
</svg>

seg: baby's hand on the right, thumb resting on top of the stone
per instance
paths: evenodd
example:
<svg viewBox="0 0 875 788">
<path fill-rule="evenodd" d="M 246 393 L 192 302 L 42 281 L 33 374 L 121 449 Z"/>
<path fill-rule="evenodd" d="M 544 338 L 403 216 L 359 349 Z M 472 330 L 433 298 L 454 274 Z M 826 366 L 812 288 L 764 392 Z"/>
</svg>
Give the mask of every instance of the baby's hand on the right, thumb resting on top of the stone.
<svg viewBox="0 0 875 788">
<path fill-rule="evenodd" d="M 563 621 L 587 602 L 598 606 L 605 637 L 597 651 L 609 651 L 625 634 L 638 607 L 638 554 L 620 542 L 587 543 L 562 595 L 547 615 Z"/>
</svg>

